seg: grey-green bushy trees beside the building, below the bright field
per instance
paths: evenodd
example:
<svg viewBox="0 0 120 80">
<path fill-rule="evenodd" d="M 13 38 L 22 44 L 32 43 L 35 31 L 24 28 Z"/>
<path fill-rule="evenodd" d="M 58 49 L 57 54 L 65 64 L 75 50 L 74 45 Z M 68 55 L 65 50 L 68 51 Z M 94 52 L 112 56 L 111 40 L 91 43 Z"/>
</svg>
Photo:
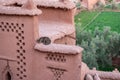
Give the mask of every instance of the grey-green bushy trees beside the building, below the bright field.
<svg viewBox="0 0 120 80">
<path fill-rule="evenodd" d="M 84 48 L 83 61 L 90 68 L 112 70 L 112 58 L 120 56 L 120 34 L 109 27 L 77 34 L 77 44 Z M 107 67 L 107 68 L 106 68 Z"/>
</svg>

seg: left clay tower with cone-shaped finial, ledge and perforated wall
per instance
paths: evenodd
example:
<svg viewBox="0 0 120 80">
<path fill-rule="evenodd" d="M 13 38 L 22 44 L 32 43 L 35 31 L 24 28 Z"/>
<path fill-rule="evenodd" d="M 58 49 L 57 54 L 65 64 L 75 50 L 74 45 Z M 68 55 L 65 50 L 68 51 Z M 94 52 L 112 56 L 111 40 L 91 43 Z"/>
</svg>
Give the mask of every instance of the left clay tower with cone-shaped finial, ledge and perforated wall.
<svg viewBox="0 0 120 80">
<path fill-rule="evenodd" d="M 0 5 L 0 80 L 34 80 L 32 52 L 41 11 L 31 3 Z"/>
</svg>

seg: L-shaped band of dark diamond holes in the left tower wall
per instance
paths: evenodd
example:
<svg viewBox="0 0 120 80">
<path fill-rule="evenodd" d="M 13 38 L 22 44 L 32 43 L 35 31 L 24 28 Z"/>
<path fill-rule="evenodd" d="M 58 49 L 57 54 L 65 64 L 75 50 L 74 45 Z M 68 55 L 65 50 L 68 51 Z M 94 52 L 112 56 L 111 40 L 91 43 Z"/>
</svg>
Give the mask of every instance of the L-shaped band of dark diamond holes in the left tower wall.
<svg viewBox="0 0 120 80">
<path fill-rule="evenodd" d="M 25 42 L 24 42 L 24 24 L 19 23 L 9 23 L 9 22 L 0 22 L 0 30 L 3 32 L 14 32 L 16 33 L 16 39 L 17 39 L 17 59 L 18 59 L 18 67 L 17 67 L 17 77 L 20 80 L 26 80 L 26 50 L 25 50 Z"/>
</svg>

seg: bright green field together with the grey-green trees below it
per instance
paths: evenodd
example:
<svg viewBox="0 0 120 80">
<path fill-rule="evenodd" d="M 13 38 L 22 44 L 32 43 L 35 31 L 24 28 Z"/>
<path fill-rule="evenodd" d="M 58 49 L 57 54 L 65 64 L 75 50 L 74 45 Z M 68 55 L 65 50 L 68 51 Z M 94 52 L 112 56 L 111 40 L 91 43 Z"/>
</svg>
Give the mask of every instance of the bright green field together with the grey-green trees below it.
<svg viewBox="0 0 120 80">
<path fill-rule="evenodd" d="M 98 13 L 82 11 L 75 16 L 77 45 L 84 48 L 83 61 L 90 68 L 112 71 L 112 57 L 120 56 L 120 12 Z"/>
</svg>

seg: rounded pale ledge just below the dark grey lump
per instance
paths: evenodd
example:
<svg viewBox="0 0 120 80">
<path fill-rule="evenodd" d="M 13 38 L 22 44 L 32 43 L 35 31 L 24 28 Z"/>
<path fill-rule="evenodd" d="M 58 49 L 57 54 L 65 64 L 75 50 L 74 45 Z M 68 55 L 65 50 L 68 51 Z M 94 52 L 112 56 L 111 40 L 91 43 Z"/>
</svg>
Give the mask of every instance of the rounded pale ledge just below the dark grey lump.
<svg viewBox="0 0 120 80">
<path fill-rule="evenodd" d="M 62 53 L 62 54 L 79 54 L 83 49 L 79 46 L 74 45 L 64 45 L 64 44 L 36 44 L 34 49 L 41 52 L 50 52 L 50 53 Z"/>
</svg>

